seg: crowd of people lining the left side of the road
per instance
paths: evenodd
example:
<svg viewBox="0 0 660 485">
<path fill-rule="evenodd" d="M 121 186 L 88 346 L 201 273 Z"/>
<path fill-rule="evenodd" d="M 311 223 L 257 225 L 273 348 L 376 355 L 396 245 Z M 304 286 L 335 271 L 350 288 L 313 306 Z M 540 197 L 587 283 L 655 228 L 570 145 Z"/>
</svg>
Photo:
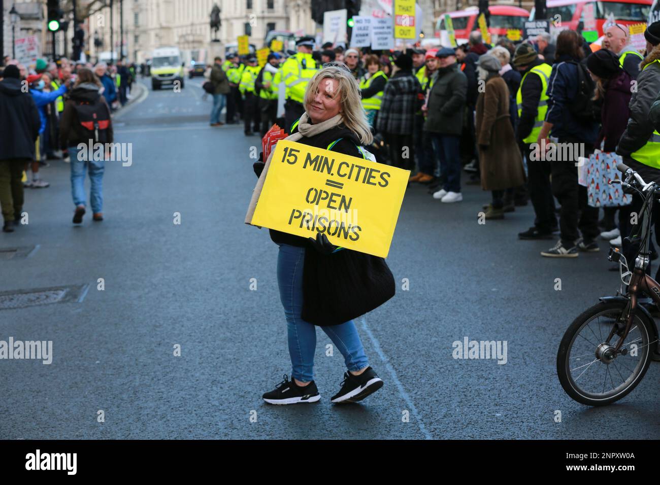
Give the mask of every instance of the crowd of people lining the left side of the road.
<svg viewBox="0 0 660 485">
<path fill-rule="evenodd" d="M 93 219 L 103 220 L 104 160 L 86 160 L 79 143 L 112 143 L 111 113 L 128 102 L 135 65 L 57 62 L 37 59 L 20 64 L 5 56 L 0 67 L 0 204 L 3 231 L 20 226 L 24 188 L 44 189 L 40 167 L 48 160 L 71 166 L 73 222 L 80 224 L 86 208 L 84 178 L 91 181 Z M 86 117 L 90 117 L 89 120 Z M 91 150 L 90 150 L 91 151 Z"/>
</svg>

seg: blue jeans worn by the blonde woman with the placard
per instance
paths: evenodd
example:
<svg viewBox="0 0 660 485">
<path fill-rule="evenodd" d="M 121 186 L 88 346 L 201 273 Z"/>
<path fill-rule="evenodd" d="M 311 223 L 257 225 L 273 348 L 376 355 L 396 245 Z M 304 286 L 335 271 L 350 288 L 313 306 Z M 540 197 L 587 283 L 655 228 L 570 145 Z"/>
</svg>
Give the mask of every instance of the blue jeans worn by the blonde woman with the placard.
<svg viewBox="0 0 660 485">
<path fill-rule="evenodd" d="M 312 323 L 306 322 L 300 317 L 305 248 L 288 244 L 280 244 L 279 247 L 277 284 L 280 288 L 280 300 L 286 316 L 292 365 L 291 377 L 302 382 L 309 382 L 314 380 L 316 328 Z M 327 257 L 332 257 L 332 255 Z M 369 366 L 362 342 L 360 342 L 360 335 L 352 320 L 341 323 L 341 325 L 321 327 L 321 329 L 344 356 L 348 370 L 358 371 Z"/>
</svg>

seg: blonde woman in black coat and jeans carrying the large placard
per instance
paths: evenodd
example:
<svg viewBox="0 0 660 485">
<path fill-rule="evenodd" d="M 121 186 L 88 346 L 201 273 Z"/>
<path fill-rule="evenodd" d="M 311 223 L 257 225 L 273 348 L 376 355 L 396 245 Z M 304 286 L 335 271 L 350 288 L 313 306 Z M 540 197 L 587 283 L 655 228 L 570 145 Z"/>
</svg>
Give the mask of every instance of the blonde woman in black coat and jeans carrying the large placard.
<svg viewBox="0 0 660 485">
<path fill-rule="evenodd" d="M 314 75 L 305 93 L 304 108 L 288 140 L 371 163 L 361 148 L 372 143 L 372 134 L 362 109 L 360 87 L 344 64 L 326 65 Z M 257 162 L 257 175 L 261 170 L 263 163 Z M 299 188 L 282 187 L 287 191 Z M 319 401 L 313 374 L 315 325 L 330 337 L 348 368 L 341 389 L 331 401 L 354 403 L 378 391 L 383 381 L 369 366 L 352 319 L 393 296 L 394 280 L 385 260 L 331 244 L 325 229 L 315 238 L 275 230 L 270 233 L 279 245 L 277 280 L 286 316 L 292 378 L 284 375 L 263 400 L 271 404 Z"/>
</svg>

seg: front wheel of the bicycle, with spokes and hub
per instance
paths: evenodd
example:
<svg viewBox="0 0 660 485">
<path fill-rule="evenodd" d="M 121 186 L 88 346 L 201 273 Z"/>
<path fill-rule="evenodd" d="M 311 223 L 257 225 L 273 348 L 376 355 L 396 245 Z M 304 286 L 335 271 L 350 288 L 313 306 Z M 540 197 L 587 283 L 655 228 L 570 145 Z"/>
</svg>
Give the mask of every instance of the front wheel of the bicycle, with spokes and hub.
<svg viewBox="0 0 660 485">
<path fill-rule="evenodd" d="M 578 403 L 614 403 L 630 393 L 649 368 L 649 337 L 653 333 L 640 309 L 636 309 L 630 332 L 614 354 L 625 328 L 618 322 L 625 307 L 624 300 L 599 303 L 579 315 L 564 333 L 557 352 L 557 375 L 564 391 Z M 612 327 L 614 335 L 608 340 Z"/>
</svg>

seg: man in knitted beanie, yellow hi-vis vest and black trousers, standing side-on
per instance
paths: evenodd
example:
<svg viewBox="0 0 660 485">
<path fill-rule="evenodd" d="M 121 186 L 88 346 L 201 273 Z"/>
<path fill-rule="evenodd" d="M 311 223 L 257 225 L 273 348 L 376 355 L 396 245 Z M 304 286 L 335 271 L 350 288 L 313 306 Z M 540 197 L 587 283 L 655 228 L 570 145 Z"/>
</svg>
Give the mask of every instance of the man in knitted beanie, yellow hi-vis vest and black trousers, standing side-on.
<svg viewBox="0 0 660 485">
<path fill-rule="evenodd" d="M 552 230 L 557 226 L 554 215 L 554 198 L 550 185 L 550 162 L 531 161 L 532 143 L 536 143 L 541 126 L 548 111 L 548 79 L 552 66 L 539 55 L 531 44 L 520 44 L 513 55 L 513 67 L 523 75 L 515 96 L 518 108 L 516 139 L 521 152 L 527 158 L 529 198 L 534 206 L 536 219 L 534 226 L 520 232 L 523 240 L 552 239 Z"/>
</svg>

